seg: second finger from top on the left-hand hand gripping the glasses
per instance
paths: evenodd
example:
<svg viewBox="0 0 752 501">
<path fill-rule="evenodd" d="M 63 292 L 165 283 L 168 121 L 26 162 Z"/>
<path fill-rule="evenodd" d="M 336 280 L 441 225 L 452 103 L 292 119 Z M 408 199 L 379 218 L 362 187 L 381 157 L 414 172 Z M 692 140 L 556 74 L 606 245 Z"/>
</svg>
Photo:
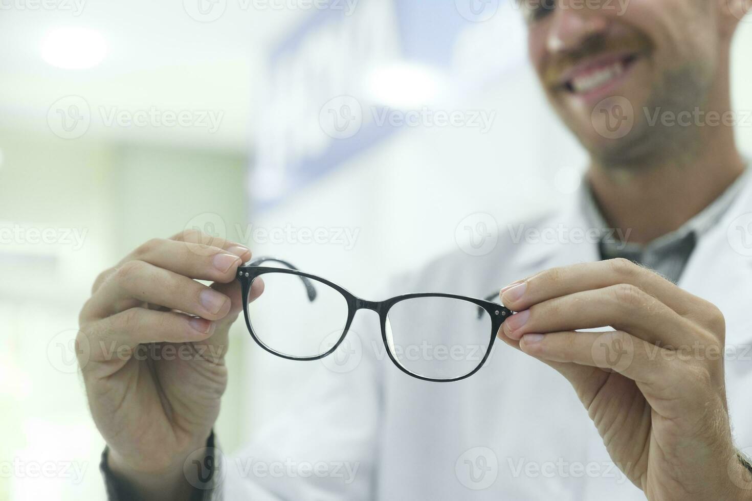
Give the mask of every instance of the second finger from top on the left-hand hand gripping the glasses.
<svg viewBox="0 0 752 501">
<path fill-rule="evenodd" d="M 230 300 L 224 294 L 145 261 L 128 261 L 92 295 L 89 315 L 105 317 L 141 303 L 218 320 L 227 315 Z"/>
</svg>

